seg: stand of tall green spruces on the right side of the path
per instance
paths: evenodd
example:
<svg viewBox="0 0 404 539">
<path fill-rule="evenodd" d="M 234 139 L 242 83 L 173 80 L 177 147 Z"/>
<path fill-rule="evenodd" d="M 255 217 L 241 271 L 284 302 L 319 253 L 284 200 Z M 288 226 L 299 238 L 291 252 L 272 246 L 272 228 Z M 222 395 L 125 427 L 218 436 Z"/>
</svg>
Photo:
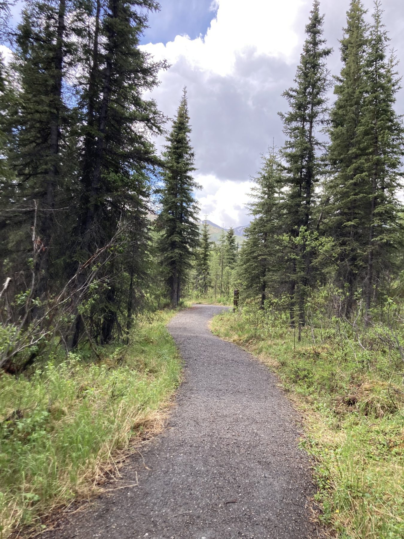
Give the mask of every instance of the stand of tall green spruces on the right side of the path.
<svg viewBox="0 0 404 539">
<path fill-rule="evenodd" d="M 327 295 L 335 314 L 351 319 L 359 309 L 369 322 L 387 296 L 402 293 L 404 139 L 394 109 L 400 79 L 381 5 L 368 25 L 361 2 L 351 2 L 343 67 L 333 81 L 322 25 L 315 2 L 295 86 L 283 94 L 285 144 L 263 157 L 236 269 L 233 259 L 220 258 L 244 299 L 260 297 L 262 308 L 280 301 L 299 328 L 313 295 Z"/>
</svg>

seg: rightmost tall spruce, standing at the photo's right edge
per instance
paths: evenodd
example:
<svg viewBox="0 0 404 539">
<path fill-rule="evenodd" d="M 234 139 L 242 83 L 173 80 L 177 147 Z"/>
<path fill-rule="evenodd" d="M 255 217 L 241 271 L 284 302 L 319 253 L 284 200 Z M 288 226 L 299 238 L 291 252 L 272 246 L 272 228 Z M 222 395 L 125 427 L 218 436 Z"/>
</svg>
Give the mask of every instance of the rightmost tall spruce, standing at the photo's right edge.
<svg viewBox="0 0 404 539">
<path fill-rule="evenodd" d="M 365 253 L 365 300 L 367 312 L 374 285 L 392 268 L 392 257 L 400 245 L 399 212 L 402 204 L 397 194 L 402 177 L 403 126 L 394 110 L 399 79 L 394 56 L 388 58 L 387 32 L 381 20 L 380 2 L 375 2 L 365 60 L 366 93 L 358 133 L 364 155 L 367 242 Z"/>
</svg>

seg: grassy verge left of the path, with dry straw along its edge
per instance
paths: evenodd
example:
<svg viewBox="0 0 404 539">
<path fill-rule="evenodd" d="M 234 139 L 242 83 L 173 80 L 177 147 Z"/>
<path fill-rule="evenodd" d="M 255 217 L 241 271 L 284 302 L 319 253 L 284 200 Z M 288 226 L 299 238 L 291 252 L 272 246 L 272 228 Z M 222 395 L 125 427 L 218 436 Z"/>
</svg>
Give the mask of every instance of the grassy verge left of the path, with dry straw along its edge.
<svg viewBox="0 0 404 539">
<path fill-rule="evenodd" d="M 31 377 L 0 376 L 0 537 L 95 488 L 158 419 L 182 363 L 158 313 L 101 360 L 69 354 Z"/>
</svg>

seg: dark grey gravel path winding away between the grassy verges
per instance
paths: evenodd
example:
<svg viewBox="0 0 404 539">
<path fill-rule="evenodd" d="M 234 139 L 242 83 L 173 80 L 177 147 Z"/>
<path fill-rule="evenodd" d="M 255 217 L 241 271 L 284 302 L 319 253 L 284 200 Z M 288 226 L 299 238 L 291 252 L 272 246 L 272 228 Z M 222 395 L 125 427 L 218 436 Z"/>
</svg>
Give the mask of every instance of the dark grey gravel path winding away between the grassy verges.
<svg viewBox="0 0 404 539">
<path fill-rule="evenodd" d="M 302 539 L 317 536 L 296 412 L 264 365 L 211 334 L 222 307 L 197 305 L 169 330 L 185 381 L 168 429 L 124 468 L 139 487 L 103 495 L 47 537 Z"/>
</svg>

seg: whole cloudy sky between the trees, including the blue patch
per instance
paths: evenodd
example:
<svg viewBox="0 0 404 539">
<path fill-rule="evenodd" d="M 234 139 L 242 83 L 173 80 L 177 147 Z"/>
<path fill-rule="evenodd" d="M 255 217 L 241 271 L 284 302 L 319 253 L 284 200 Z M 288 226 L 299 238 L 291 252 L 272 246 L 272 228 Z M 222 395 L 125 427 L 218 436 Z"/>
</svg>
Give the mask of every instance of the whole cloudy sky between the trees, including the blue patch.
<svg viewBox="0 0 404 539">
<path fill-rule="evenodd" d="M 172 118 L 186 85 L 201 216 L 206 212 L 219 225 L 247 224 L 249 178 L 273 140 L 283 143 L 277 112 L 287 110 L 281 94 L 293 84 L 312 0 L 159 1 L 143 47 L 171 68 L 152 95 Z M 364 4 L 371 20 L 373 1 Z M 340 70 L 338 39 L 348 6 L 349 0 L 321 2 L 324 37 L 334 49 L 332 74 Z M 404 73 L 404 3 L 384 0 L 382 6 Z M 404 113 L 404 92 L 397 109 Z"/>
</svg>

